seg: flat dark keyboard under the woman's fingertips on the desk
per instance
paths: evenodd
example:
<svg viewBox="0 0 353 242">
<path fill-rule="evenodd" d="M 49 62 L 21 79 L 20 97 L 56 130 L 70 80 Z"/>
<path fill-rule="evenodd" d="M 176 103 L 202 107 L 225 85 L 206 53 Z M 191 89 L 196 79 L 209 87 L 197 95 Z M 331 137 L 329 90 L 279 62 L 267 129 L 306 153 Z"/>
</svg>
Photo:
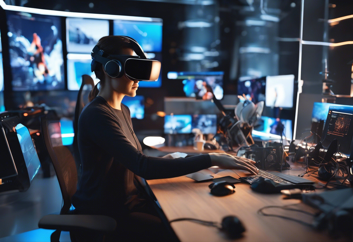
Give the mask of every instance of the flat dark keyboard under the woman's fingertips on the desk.
<svg viewBox="0 0 353 242">
<path fill-rule="evenodd" d="M 251 184 L 253 181 L 255 181 L 259 177 L 271 179 L 271 180 L 275 181 L 276 183 L 315 184 L 315 182 L 313 182 L 312 180 L 308 180 L 303 177 L 298 177 L 296 175 L 289 175 L 289 174 L 284 174 L 284 173 L 276 172 L 276 171 L 266 172 L 261 169 L 259 169 L 259 173 L 256 175 L 252 175 L 249 177 L 240 177 L 240 179 Z"/>
</svg>

